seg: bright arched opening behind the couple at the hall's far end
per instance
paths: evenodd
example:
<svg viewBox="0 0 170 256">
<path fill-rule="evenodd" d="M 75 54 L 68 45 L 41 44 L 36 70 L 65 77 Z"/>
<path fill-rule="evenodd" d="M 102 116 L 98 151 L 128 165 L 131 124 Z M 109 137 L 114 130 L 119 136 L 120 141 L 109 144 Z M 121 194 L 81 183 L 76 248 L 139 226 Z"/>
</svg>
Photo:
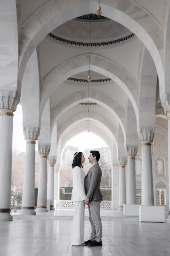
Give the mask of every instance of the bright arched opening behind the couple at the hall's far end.
<svg viewBox="0 0 170 256">
<path fill-rule="evenodd" d="M 74 153 L 76 151 L 83 152 L 85 156 L 84 171 L 85 173 L 91 167 L 88 156 L 91 150 L 98 150 L 100 153 L 99 165 L 102 169 L 101 191 L 104 201 L 111 201 L 111 152 L 108 145 L 98 135 L 85 131 L 72 137 L 65 144 L 62 151 L 61 167 L 60 167 L 60 201 L 71 200 L 72 192 L 72 166 Z M 68 205 L 65 203 L 65 207 Z"/>
</svg>

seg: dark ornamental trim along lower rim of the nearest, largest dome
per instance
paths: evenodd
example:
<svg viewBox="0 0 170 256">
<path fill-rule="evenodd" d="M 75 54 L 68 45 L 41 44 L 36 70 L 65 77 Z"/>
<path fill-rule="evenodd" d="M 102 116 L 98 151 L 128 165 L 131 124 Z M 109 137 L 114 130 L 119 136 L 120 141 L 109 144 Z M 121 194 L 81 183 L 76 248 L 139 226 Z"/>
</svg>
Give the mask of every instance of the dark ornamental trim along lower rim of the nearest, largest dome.
<svg viewBox="0 0 170 256">
<path fill-rule="evenodd" d="M 54 40 L 57 40 L 57 41 L 60 41 L 60 42 L 63 42 L 63 43 L 66 43 L 66 44 L 74 44 L 74 45 L 78 45 L 78 46 L 105 46 L 105 45 L 111 45 L 111 44 L 117 44 L 117 43 L 120 43 L 120 42 L 123 42 L 123 41 L 126 41 L 130 38 L 132 38 L 135 34 L 132 33 L 130 35 L 127 35 L 123 38 L 119 38 L 119 39 L 116 39 L 116 40 L 112 40 L 112 41 L 108 41 L 108 42 L 100 42 L 100 43 L 85 43 L 85 42 L 76 42 L 76 41 L 71 41 L 71 40 L 67 40 L 67 39 L 64 39 L 64 38 L 60 38 L 59 36 L 57 35 L 54 35 L 52 33 L 49 33 L 48 36 L 53 38 Z"/>
</svg>

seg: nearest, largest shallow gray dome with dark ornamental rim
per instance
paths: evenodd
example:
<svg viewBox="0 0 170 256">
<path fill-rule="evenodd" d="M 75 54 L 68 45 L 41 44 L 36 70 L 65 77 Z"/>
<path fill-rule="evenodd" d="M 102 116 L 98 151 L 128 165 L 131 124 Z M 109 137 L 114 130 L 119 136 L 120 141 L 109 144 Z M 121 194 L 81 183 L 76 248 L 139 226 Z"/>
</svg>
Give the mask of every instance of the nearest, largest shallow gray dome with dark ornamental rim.
<svg viewBox="0 0 170 256">
<path fill-rule="evenodd" d="M 69 20 L 54 29 L 49 36 L 67 44 L 88 46 L 90 26 L 91 46 L 116 44 L 134 36 L 130 30 L 116 21 L 103 16 L 98 17 L 95 14 L 83 15 Z"/>
</svg>

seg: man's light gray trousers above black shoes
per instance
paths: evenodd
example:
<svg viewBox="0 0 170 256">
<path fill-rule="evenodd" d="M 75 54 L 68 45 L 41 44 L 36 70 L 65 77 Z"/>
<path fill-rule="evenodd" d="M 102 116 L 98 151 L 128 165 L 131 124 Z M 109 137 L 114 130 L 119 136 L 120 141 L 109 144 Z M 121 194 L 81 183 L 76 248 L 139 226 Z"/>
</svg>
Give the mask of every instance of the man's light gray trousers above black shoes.
<svg viewBox="0 0 170 256">
<path fill-rule="evenodd" d="M 90 240 L 100 242 L 102 240 L 102 221 L 100 218 L 100 201 L 89 201 L 89 221 L 91 224 Z"/>
</svg>

